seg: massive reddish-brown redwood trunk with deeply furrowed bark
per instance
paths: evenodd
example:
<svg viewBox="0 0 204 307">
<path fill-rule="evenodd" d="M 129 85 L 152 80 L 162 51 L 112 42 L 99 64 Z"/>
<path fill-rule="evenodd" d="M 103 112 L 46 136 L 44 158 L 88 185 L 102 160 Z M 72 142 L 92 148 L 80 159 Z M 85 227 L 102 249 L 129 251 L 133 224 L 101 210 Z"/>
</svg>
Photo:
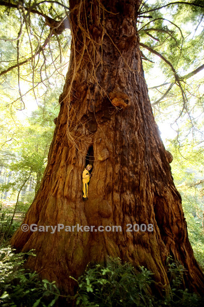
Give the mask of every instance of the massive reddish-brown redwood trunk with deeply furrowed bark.
<svg viewBox="0 0 204 307">
<path fill-rule="evenodd" d="M 18 251 L 35 249 L 27 267 L 72 289 L 90 262 L 120 257 L 168 284 L 166 258 L 187 270 L 184 285 L 202 292 L 204 276 L 187 237 L 181 197 L 159 136 L 139 50 L 139 0 L 70 0 L 70 67 L 40 189 L 24 223 L 121 225 L 122 232 L 23 232 Z M 93 171 L 82 200 L 87 153 Z M 91 159 L 91 157 L 90 157 Z M 153 232 L 127 232 L 127 224 Z"/>
</svg>

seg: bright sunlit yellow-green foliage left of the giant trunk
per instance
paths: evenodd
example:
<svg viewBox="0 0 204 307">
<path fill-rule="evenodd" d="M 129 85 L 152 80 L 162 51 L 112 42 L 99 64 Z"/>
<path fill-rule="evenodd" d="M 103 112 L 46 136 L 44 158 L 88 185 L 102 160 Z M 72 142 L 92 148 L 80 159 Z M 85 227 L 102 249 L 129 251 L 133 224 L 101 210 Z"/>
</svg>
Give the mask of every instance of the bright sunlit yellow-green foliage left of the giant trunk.
<svg viewBox="0 0 204 307">
<path fill-rule="evenodd" d="M 0 3 L 0 72 L 30 59 L 0 76 L 0 166 L 12 171 L 10 182 L 6 178 L 1 191 L 5 195 L 9 190 L 14 200 L 29 173 L 37 192 L 47 163 L 69 62 L 70 32 L 52 33 L 47 39 L 50 28 L 43 16 L 60 20 L 66 15 L 61 4 L 32 0 L 13 8 L 8 1 Z M 43 13 L 27 12 L 23 6 Z M 46 48 L 38 54 L 45 41 Z M 24 188 L 27 184 L 29 181 Z"/>
</svg>

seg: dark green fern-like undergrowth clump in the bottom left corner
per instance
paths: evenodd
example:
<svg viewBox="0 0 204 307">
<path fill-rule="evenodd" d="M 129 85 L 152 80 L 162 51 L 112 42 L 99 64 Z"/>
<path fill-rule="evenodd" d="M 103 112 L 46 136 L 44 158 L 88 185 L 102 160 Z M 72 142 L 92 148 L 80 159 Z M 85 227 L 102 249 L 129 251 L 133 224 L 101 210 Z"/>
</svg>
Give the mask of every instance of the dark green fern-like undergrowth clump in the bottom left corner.
<svg viewBox="0 0 204 307">
<path fill-rule="evenodd" d="M 27 256 L 34 256 L 32 252 Z M 15 254 L 7 247 L 0 249 L 0 306 L 51 307 L 60 293 L 55 282 L 40 280 L 36 272 L 24 269 L 25 254 Z"/>
</svg>

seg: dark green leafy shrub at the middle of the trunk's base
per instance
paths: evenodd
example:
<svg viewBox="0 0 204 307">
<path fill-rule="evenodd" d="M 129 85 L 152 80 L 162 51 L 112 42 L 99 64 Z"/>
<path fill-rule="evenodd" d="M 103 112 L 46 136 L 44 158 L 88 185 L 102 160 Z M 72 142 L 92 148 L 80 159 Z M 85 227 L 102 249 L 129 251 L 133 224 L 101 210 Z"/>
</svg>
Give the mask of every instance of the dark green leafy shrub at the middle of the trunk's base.
<svg viewBox="0 0 204 307">
<path fill-rule="evenodd" d="M 152 306 L 148 297 L 151 272 L 134 268 L 120 259 L 111 259 L 107 266 L 96 265 L 78 279 L 77 305 L 95 306 Z"/>
</svg>

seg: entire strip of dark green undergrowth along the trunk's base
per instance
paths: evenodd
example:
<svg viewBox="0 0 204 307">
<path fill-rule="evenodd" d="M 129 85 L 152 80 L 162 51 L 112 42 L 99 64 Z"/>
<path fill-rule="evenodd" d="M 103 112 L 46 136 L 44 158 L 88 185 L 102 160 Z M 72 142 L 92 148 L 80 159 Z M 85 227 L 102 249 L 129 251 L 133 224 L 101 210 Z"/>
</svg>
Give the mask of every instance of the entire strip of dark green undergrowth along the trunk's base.
<svg viewBox="0 0 204 307">
<path fill-rule="evenodd" d="M 33 255 L 32 251 L 26 255 Z M 60 295 L 55 282 L 40 280 L 36 272 L 24 268 L 25 254 L 15 254 L 9 246 L 0 249 L 0 306 L 2 307 L 200 307 L 204 299 L 180 289 L 182 266 L 168 261 L 171 282 L 163 299 L 155 295 L 153 273 L 131 264 L 122 264 L 119 258 L 110 258 L 106 266 L 87 267 L 77 280 L 74 297 Z M 72 277 L 73 278 L 73 277 Z M 152 290 L 151 290 L 152 289 Z M 59 303 L 59 298 L 64 303 Z M 61 302 L 61 301 L 60 301 Z M 71 304 L 71 305 L 70 305 Z"/>
</svg>

